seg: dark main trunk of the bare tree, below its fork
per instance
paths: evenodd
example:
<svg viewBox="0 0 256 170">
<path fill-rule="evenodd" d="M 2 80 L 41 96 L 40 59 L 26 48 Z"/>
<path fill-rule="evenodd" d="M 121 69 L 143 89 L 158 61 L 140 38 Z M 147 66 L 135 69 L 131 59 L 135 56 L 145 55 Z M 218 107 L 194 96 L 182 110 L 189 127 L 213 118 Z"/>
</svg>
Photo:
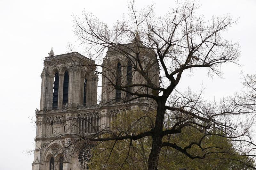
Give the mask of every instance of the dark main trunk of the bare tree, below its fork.
<svg viewBox="0 0 256 170">
<path fill-rule="evenodd" d="M 154 133 L 152 136 L 152 148 L 148 157 L 148 169 L 157 170 L 158 158 L 161 151 L 162 145 L 162 132 L 163 132 L 163 122 L 164 122 L 164 105 L 161 103 L 157 104 L 156 122 L 154 127 Z"/>
</svg>

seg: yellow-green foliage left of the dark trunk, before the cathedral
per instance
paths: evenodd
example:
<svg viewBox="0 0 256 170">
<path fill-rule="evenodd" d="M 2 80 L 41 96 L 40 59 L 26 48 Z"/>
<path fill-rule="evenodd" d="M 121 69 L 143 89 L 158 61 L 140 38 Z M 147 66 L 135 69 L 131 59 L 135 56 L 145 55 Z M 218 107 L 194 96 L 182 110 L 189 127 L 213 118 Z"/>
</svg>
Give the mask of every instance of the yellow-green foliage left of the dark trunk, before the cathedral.
<svg viewBox="0 0 256 170">
<path fill-rule="evenodd" d="M 117 134 L 119 132 L 123 132 L 124 135 L 139 134 L 152 129 L 151 120 L 154 120 L 154 117 L 154 114 L 140 110 L 129 113 L 121 112 L 112 121 L 111 130 Z M 108 136 L 108 134 L 103 135 L 103 137 Z M 89 166 L 92 169 L 102 169 L 106 164 L 104 169 L 109 170 L 121 167 L 123 169 L 147 169 L 151 143 L 151 137 L 144 137 L 132 143 L 130 139 L 100 142 L 92 150 L 93 158 Z"/>
</svg>

